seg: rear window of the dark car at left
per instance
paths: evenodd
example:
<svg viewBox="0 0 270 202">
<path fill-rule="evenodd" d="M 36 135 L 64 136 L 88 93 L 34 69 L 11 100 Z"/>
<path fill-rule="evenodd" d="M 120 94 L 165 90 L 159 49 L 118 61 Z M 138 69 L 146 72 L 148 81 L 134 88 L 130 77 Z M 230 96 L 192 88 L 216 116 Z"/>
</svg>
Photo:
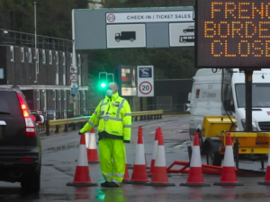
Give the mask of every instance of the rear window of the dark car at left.
<svg viewBox="0 0 270 202">
<path fill-rule="evenodd" d="M 0 117 L 8 115 L 22 116 L 20 102 L 16 93 L 0 91 Z"/>
</svg>

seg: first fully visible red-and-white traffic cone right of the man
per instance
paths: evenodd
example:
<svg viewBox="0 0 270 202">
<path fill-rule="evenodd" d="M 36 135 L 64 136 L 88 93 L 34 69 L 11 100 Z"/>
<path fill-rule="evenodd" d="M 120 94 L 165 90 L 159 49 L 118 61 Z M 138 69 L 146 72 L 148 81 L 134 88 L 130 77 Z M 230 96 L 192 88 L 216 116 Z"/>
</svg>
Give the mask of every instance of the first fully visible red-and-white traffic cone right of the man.
<svg viewBox="0 0 270 202">
<path fill-rule="evenodd" d="M 142 128 L 139 126 L 138 139 L 136 145 L 135 161 L 131 180 L 126 181 L 126 184 L 144 184 L 148 181 L 147 168 L 144 155 L 144 145 Z"/>
</svg>

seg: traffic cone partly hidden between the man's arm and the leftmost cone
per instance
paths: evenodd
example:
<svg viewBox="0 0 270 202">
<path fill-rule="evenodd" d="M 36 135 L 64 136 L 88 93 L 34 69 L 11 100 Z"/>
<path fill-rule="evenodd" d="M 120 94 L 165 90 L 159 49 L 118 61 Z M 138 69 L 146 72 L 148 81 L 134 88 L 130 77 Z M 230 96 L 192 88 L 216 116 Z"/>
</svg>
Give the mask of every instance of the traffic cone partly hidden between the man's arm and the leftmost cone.
<svg viewBox="0 0 270 202">
<path fill-rule="evenodd" d="M 98 163 L 98 155 L 96 149 L 95 133 L 94 127 L 91 129 L 90 134 L 88 135 L 88 145 L 87 147 L 87 159 L 90 163 Z"/>
</svg>

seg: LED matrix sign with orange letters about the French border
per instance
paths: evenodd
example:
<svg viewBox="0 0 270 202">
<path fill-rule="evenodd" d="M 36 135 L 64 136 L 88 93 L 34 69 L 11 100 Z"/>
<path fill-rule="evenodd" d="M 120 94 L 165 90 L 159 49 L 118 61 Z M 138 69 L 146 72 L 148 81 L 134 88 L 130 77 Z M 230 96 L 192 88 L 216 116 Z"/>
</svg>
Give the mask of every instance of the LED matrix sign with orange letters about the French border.
<svg viewBox="0 0 270 202">
<path fill-rule="evenodd" d="M 269 67 L 270 1 L 196 0 L 197 67 Z"/>
</svg>

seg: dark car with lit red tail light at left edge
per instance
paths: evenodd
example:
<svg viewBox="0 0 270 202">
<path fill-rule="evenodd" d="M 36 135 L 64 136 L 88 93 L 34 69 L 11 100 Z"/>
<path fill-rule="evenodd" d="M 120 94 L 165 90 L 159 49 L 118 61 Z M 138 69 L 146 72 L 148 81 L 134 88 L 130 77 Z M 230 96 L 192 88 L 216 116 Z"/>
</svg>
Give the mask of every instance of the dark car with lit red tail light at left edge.
<svg viewBox="0 0 270 202">
<path fill-rule="evenodd" d="M 0 180 L 21 182 L 31 193 L 40 191 L 40 118 L 31 115 L 19 88 L 0 86 Z"/>
</svg>

